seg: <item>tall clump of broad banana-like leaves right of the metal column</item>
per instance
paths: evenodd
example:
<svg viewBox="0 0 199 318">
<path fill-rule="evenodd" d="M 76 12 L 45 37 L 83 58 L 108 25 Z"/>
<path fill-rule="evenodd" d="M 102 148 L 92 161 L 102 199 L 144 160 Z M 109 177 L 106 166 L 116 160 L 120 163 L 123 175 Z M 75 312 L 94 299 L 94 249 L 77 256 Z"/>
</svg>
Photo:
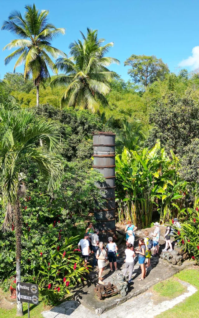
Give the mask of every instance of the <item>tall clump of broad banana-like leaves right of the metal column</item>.
<svg viewBox="0 0 199 318">
<path fill-rule="evenodd" d="M 179 199 L 184 182 L 177 177 L 177 158 L 171 160 L 160 142 L 148 150 L 128 151 L 116 155 L 116 185 L 119 221 L 148 227 L 153 209 L 160 206 L 160 221 L 183 213 Z"/>
</svg>

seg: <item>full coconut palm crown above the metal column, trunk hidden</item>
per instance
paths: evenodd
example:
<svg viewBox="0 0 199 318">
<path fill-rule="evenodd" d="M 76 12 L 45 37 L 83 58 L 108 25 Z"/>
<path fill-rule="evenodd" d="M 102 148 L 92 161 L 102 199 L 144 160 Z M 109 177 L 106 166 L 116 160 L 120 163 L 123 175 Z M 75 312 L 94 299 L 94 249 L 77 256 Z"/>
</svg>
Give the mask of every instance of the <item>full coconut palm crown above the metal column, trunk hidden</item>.
<svg viewBox="0 0 199 318">
<path fill-rule="evenodd" d="M 78 40 L 69 45 L 70 57 L 57 59 L 56 67 L 64 74 L 55 77 L 51 87 L 67 86 L 61 106 L 66 104 L 68 107 L 96 112 L 100 105 L 108 104 L 105 95 L 110 92 L 110 80 L 116 75 L 106 66 L 119 64 L 119 61 L 104 56 L 114 43 L 102 45 L 105 40 L 98 39 L 97 30 L 87 28 L 87 37 L 80 33 L 83 41 Z"/>
</svg>

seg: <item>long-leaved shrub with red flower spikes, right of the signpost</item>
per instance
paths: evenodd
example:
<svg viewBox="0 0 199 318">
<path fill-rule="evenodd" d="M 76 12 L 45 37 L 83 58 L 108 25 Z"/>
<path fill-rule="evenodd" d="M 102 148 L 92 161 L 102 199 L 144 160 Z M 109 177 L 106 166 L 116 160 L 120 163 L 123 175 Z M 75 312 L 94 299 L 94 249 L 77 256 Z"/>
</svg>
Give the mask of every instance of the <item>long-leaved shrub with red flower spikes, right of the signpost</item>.
<svg viewBox="0 0 199 318">
<path fill-rule="evenodd" d="M 39 285 L 39 296 L 46 305 L 55 305 L 67 294 L 69 288 L 75 287 L 85 279 L 89 267 L 84 266 L 81 251 L 77 248 L 79 236 L 65 238 L 63 243 L 49 240 L 46 251 L 41 249 L 35 256 L 39 264 L 32 269 L 32 275 L 24 277 L 25 281 Z"/>
</svg>

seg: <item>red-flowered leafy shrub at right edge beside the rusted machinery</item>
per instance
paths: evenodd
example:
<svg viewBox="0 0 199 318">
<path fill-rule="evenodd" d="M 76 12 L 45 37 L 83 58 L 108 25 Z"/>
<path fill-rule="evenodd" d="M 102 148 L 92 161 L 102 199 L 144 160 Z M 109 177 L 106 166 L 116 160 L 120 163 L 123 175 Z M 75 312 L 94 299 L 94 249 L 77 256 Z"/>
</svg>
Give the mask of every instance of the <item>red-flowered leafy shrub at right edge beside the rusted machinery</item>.
<svg viewBox="0 0 199 318">
<path fill-rule="evenodd" d="M 199 211 L 188 208 L 188 219 L 181 224 L 181 229 L 178 231 L 180 245 L 188 251 L 192 259 L 199 262 Z"/>
</svg>

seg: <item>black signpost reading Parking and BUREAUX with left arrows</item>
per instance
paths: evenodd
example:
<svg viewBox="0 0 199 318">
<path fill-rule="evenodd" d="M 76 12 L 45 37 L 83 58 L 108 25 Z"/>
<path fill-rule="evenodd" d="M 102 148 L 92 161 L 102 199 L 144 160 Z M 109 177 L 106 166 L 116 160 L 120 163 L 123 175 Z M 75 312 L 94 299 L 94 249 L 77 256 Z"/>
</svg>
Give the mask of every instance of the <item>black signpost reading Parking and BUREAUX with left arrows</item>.
<svg viewBox="0 0 199 318">
<path fill-rule="evenodd" d="M 17 282 L 17 301 L 28 303 L 28 318 L 30 318 L 30 305 L 39 304 L 39 286 L 35 284 Z"/>
</svg>

